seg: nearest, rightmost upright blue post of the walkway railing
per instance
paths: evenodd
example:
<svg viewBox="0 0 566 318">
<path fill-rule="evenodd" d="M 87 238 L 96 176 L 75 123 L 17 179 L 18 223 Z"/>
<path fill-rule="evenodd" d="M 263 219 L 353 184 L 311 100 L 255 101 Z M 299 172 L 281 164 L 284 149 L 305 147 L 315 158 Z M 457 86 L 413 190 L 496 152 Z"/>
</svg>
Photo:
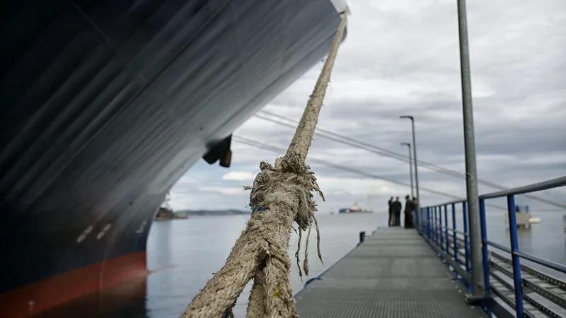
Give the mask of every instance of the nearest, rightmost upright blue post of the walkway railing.
<svg viewBox="0 0 566 318">
<path fill-rule="evenodd" d="M 517 239 L 517 220 L 515 215 L 515 196 L 507 196 L 507 215 L 509 217 L 509 239 L 511 240 L 511 259 L 513 264 L 513 283 L 515 288 L 515 310 L 516 317 L 524 317 L 523 308 L 523 286 L 521 279 L 521 264 L 519 257 L 515 255 L 519 252 L 519 240 Z"/>
</svg>

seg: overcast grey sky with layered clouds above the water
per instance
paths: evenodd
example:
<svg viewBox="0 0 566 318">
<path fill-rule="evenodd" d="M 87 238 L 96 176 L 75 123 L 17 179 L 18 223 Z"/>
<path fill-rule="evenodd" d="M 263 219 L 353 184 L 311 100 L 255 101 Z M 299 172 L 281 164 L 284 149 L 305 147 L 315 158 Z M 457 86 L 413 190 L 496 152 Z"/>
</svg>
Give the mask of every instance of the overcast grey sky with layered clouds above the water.
<svg viewBox="0 0 566 318">
<path fill-rule="evenodd" d="M 464 171 L 458 24 L 454 0 L 350 0 L 319 128 L 406 155 L 412 114 L 418 158 Z M 470 0 L 468 32 L 480 179 L 518 187 L 566 175 L 566 1 Z M 298 120 L 322 64 L 263 110 Z M 259 113 L 258 113 L 259 114 Z M 270 115 L 263 113 L 269 117 Z M 281 119 L 277 119 L 281 120 Z M 291 122 L 294 124 L 294 122 Z M 261 133 L 258 133 L 261 127 Z M 252 117 L 234 136 L 286 148 L 294 129 Z M 171 190 L 171 206 L 246 208 L 260 161 L 280 153 L 232 143 L 229 169 L 200 160 Z M 408 163 L 315 138 L 309 157 L 409 183 Z M 327 201 L 320 213 L 358 202 L 382 211 L 409 187 L 310 162 Z M 465 196 L 464 179 L 420 167 L 420 187 Z M 480 185 L 480 193 L 495 189 Z M 566 204 L 565 188 L 537 194 Z M 422 204 L 452 201 L 420 192 Z M 555 206 L 519 197 L 519 204 Z M 494 202 L 502 204 L 501 201 Z"/>
</svg>

